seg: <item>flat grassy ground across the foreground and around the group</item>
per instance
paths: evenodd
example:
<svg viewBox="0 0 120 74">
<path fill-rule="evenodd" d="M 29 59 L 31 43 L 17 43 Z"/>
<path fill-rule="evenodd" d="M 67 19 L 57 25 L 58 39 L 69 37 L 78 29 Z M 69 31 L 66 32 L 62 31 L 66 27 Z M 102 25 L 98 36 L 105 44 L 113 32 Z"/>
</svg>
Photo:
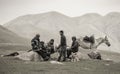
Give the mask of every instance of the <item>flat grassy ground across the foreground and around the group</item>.
<svg viewBox="0 0 120 74">
<path fill-rule="evenodd" d="M 8 48 L 2 46 L 0 54 L 8 54 L 18 51 L 18 46 Z M 25 48 L 19 46 L 19 50 Z M 29 48 L 26 48 L 28 50 Z M 119 57 L 119 54 L 106 53 L 112 58 Z M 0 57 L 0 74 L 120 74 L 120 63 L 113 61 L 100 61 L 83 59 L 79 62 L 63 62 L 63 65 L 47 62 L 28 62 L 13 57 Z"/>
</svg>

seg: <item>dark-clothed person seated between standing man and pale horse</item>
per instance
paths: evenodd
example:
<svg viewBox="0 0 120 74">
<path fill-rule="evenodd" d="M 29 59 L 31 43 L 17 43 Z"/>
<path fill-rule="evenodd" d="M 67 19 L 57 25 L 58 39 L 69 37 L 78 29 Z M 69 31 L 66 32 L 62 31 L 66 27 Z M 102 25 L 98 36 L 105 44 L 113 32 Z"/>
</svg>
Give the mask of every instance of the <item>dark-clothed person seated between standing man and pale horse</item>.
<svg viewBox="0 0 120 74">
<path fill-rule="evenodd" d="M 69 56 L 71 55 L 71 53 L 76 53 L 76 52 L 78 52 L 78 49 L 79 49 L 79 43 L 78 43 L 78 41 L 76 40 L 76 37 L 73 36 L 73 37 L 72 37 L 72 45 L 71 45 L 71 48 L 70 48 L 70 50 L 67 50 L 67 58 L 69 58 Z"/>
</svg>

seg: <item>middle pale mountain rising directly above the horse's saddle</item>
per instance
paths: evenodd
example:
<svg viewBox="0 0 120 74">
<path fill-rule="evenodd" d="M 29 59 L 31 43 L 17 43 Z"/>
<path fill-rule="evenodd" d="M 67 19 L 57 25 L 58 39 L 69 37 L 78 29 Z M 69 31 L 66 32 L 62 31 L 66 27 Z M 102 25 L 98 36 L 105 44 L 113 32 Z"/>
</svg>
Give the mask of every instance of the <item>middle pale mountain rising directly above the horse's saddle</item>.
<svg viewBox="0 0 120 74">
<path fill-rule="evenodd" d="M 77 28 L 81 35 L 95 34 L 98 37 L 104 36 L 104 33 L 94 26 L 94 23 L 96 23 L 100 18 L 102 18 L 102 16 L 96 13 L 88 13 L 79 17 L 74 17 L 78 22 Z"/>
</svg>

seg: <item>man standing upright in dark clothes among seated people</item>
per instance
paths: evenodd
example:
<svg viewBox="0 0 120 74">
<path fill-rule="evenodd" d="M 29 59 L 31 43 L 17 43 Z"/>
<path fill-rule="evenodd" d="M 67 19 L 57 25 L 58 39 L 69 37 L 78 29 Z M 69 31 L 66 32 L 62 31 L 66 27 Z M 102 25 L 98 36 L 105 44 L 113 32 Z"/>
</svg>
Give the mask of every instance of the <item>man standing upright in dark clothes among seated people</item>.
<svg viewBox="0 0 120 74">
<path fill-rule="evenodd" d="M 61 60 L 61 57 L 63 56 L 63 61 L 66 61 L 66 37 L 64 35 L 64 32 L 61 30 L 60 31 L 60 36 L 61 36 L 61 40 L 60 40 L 60 45 L 58 47 L 58 49 L 60 48 L 60 54 L 58 57 L 58 61 Z"/>
</svg>

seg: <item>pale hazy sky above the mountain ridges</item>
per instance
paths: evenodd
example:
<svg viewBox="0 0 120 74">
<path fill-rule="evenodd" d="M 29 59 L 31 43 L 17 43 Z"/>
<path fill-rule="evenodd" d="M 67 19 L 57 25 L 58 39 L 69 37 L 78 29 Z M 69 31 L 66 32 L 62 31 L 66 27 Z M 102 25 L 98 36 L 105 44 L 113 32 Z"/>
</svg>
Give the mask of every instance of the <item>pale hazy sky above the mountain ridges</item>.
<svg viewBox="0 0 120 74">
<path fill-rule="evenodd" d="M 58 11 L 68 16 L 120 12 L 120 0 L 0 0 L 0 24 L 18 16 Z"/>
</svg>

